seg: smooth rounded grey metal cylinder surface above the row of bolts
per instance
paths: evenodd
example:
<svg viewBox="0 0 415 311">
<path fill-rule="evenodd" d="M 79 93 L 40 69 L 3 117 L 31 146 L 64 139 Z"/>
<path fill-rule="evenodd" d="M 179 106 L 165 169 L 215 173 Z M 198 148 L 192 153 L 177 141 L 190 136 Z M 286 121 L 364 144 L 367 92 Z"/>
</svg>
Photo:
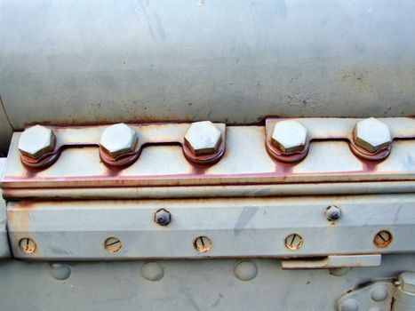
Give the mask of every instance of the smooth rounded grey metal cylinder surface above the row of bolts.
<svg viewBox="0 0 415 311">
<path fill-rule="evenodd" d="M 12 126 L 415 115 L 415 3 L 0 2 Z"/>
</svg>

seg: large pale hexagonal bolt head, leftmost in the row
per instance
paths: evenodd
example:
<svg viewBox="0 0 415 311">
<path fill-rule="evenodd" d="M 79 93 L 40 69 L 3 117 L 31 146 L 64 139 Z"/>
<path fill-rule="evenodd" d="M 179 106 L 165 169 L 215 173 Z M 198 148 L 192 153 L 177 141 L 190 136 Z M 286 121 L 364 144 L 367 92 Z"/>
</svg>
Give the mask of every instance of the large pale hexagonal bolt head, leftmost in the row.
<svg viewBox="0 0 415 311">
<path fill-rule="evenodd" d="M 55 148 L 56 138 L 51 129 L 35 125 L 20 135 L 19 150 L 23 156 L 37 160 Z"/>
</svg>

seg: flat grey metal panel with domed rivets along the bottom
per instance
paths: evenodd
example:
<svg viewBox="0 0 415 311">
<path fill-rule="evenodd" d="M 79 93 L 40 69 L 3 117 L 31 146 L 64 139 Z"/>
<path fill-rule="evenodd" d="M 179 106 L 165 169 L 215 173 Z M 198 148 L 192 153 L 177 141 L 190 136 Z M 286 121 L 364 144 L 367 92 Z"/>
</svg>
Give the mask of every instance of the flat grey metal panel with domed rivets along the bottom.
<svg viewBox="0 0 415 311">
<path fill-rule="evenodd" d="M 13 260 L 0 264 L 0 297 L 6 311 L 334 311 L 342 292 L 379 278 L 396 278 L 413 267 L 411 254 L 387 255 L 380 267 L 355 267 L 342 276 L 328 270 L 282 270 L 275 259 L 74 262 L 52 267 Z M 359 302 L 365 303 L 363 299 Z M 390 306 L 380 310 L 389 311 Z"/>
</svg>

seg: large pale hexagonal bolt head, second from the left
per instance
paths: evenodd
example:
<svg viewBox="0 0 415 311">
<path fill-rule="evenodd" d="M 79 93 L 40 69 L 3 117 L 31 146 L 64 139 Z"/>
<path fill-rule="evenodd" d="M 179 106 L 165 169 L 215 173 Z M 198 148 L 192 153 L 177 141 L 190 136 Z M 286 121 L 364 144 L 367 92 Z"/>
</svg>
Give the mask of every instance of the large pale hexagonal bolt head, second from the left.
<svg viewBox="0 0 415 311">
<path fill-rule="evenodd" d="M 116 158 L 131 153 L 137 147 L 137 133 L 127 124 L 114 124 L 102 132 L 100 147 Z"/>
</svg>

